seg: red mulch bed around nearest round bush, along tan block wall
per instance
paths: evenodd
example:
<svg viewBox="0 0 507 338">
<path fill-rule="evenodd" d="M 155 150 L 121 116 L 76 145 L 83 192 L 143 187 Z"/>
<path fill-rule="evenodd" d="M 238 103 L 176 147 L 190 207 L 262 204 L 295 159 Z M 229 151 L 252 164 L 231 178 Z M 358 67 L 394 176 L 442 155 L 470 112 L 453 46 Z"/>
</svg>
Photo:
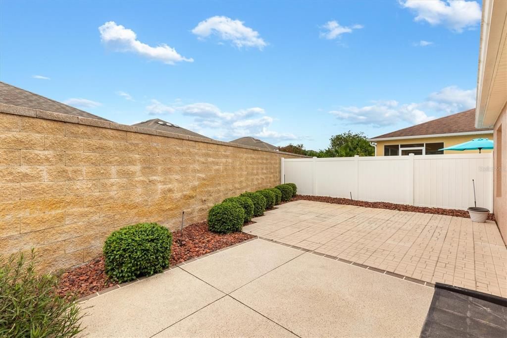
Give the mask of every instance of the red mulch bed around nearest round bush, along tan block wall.
<svg viewBox="0 0 507 338">
<path fill-rule="evenodd" d="M 249 222 L 251 224 L 254 222 Z M 208 230 L 206 222 L 195 223 L 172 233 L 170 265 L 202 256 L 255 236 L 244 232 L 218 234 Z M 70 293 L 78 298 L 90 295 L 118 283 L 105 274 L 104 257 L 95 258 L 83 265 L 67 269 L 60 279 L 57 293 Z"/>
</svg>

